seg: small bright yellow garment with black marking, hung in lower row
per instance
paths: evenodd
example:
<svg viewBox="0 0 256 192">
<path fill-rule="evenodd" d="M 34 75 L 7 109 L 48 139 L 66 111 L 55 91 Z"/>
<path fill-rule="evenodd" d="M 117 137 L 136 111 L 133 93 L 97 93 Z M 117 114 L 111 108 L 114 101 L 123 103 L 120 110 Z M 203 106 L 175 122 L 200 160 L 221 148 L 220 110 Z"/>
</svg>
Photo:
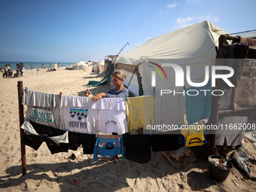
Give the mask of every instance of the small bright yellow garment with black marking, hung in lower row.
<svg viewBox="0 0 256 192">
<path fill-rule="evenodd" d="M 180 148 L 201 146 L 205 143 L 203 125 L 195 125 L 190 129 L 181 130 L 181 134 Z"/>
</svg>

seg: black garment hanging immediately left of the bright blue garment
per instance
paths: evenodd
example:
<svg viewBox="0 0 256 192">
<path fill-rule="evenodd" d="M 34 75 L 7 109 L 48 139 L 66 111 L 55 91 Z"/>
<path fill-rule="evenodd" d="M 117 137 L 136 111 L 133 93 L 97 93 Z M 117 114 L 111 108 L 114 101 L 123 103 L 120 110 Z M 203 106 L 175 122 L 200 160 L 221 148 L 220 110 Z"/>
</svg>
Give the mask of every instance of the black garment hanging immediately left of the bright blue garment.
<svg viewBox="0 0 256 192">
<path fill-rule="evenodd" d="M 95 142 L 96 135 L 69 132 L 69 148 L 72 150 L 76 151 L 82 145 L 84 154 L 93 154 Z"/>
</svg>

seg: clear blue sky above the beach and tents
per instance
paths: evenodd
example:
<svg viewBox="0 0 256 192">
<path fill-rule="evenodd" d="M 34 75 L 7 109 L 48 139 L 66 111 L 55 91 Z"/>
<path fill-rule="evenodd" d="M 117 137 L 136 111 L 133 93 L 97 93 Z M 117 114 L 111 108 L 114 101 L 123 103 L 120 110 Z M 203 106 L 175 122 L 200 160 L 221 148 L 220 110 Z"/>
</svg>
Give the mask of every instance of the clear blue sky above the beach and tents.
<svg viewBox="0 0 256 192">
<path fill-rule="evenodd" d="M 0 60 L 99 61 L 202 20 L 252 30 L 255 8 L 254 0 L 0 0 Z"/>
</svg>

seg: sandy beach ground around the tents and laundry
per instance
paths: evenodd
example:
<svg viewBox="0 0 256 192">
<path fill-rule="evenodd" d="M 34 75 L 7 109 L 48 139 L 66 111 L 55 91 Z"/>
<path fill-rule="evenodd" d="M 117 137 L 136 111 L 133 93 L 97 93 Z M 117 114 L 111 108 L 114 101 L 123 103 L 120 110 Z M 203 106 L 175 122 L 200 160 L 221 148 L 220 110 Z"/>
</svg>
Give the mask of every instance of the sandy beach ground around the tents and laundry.
<svg viewBox="0 0 256 192">
<path fill-rule="evenodd" d="M 203 150 L 197 153 L 197 161 L 175 169 L 161 152 L 152 152 L 148 163 L 139 164 L 111 157 L 95 162 L 93 155 L 84 154 L 72 160 L 75 151 L 50 154 L 46 144 L 38 151 L 26 146 L 27 174 L 22 175 L 17 81 L 29 90 L 84 96 L 88 81 L 101 79 L 102 75 L 64 68 L 38 74 L 27 70 L 20 78 L 0 78 L 0 191 L 255 191 L 255 162 L 250 162 L 251 178 L 234 168 L 226 181 L 217 182 L 209 178 L 208 154 Z M 95 94 L 109 88 L 90 90 Z M 244 141 L 256 157 L 254 146 Z"/>
</svg>

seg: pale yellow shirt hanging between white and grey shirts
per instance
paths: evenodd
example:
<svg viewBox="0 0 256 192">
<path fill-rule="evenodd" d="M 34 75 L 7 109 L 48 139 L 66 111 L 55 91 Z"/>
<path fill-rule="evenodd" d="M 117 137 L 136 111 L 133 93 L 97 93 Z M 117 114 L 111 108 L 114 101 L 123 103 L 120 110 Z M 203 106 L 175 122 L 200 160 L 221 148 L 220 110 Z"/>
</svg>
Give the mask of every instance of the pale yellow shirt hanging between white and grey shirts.
<svg viewBox="0 0 256 192">
<path fill-rule="evenodd" d="M 148 126 L 154 124 L 154 96 L 128 97 L 126 111 L 129 132 L 143 128 L 149 133 Z"/>
</svg>

